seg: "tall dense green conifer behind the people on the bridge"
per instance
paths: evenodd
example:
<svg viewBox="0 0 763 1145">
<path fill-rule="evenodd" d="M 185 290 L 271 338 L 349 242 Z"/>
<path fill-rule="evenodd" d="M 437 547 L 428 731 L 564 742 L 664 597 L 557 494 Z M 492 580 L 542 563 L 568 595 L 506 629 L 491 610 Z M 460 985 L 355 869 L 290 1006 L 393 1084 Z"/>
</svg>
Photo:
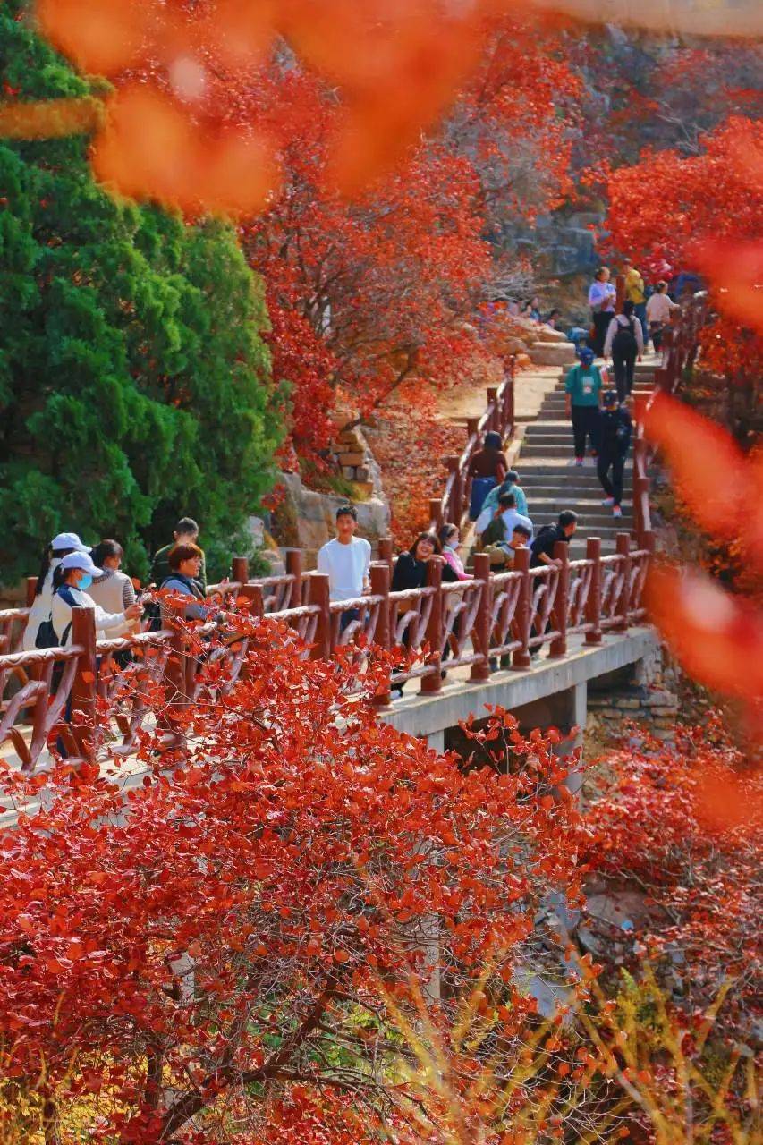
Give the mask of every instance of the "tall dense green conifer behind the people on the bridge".
<svg viewBox="0 0 763 1145">
<path fill-rule="evenodd" d="M 2 6 L 0 98 L 89 90 Z M 0 142 L 0 582 L 63 529 L 144 576 L 184 514 L 219 575 L 281 437 L 262 284 L 230 227 L 109 197 L 87 145 Z"/>
</svg>

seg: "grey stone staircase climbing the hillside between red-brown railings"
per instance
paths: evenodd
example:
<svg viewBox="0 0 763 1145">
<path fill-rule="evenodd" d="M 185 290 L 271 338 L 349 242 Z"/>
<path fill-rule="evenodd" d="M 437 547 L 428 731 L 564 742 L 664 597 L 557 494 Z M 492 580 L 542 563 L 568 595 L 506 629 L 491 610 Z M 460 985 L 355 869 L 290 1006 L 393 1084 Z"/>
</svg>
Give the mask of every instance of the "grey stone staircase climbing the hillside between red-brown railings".
<svg viewBox="0 0 763 1145">
<path fill-rule="evenodd" d="M 637 366 L 636 395 L 651 392 L 654 365 Z M 634 528 L 632 444 L 626 463 L 622 518 L 615 519 L 612 510 L 601 505 L 604 490 L 596 476 L 595 458 L 587 457 L 580 468 L 574 465 L 572 425 L 565 418 L 565 377 L 566 373 L 559 376 L 543 398 L 540 412 L 526 423 L 516 468 L 536 529 L 553 524 L 563 510 L 573 508 L 580 521 L 569 546 L 571 556 L 584 554 L 588 537 L 600 537 L 601 551 L 613 553 L 616 535 Z"/>
</svg>

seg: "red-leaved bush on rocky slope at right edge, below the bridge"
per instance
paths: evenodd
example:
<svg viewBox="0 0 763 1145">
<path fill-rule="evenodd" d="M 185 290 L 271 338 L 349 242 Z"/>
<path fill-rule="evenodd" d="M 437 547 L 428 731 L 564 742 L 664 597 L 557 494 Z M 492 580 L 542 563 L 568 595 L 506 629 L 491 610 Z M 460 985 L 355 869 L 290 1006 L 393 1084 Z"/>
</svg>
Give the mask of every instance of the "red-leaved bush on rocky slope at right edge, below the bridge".
<svg viewBox="0 0 763 1145">
<path fill-rule="evenodd" d="M 615 897 L 623 890 L 640 897 L 640 918 L 620 940 L 631 946 L 635 965 L 644 943 L 687 1013 L 729 985 L 718 1021 L 725 1034 L 748 1041 L 761 998 L 760 771 L 749 769 L 713 717 L 679 732 L 675 747 L 629 745 L 606 765 L 608 788 L 588 814 L 597 843 L 587 858 L 591 883 L 604 879 Z"/>
</svg>

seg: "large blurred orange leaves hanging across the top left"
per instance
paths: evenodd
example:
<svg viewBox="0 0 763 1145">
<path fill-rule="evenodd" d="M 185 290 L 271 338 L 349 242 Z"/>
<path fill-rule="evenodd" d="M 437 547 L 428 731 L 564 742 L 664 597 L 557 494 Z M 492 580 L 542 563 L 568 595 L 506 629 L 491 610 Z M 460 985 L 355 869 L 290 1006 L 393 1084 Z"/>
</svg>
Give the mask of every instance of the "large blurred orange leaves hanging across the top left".
<svg viewBox="0 0 763 1145">
<path fill-rule="evenodd" d="M 45 34 L 82 71 L 116 80 L 95 141 L 100 177 L 184 211 L 241 215 L 260 211 L 278 177 L 269 142 L 251 123 L 231 128 L 228 118 L 237 87 L 278 38 L 339 88 L 344 114 L 328 179 L 356 194 L 446 109 L 478 61 L 486 7 L 40 0 L 37 11 Z"/>
</svg>

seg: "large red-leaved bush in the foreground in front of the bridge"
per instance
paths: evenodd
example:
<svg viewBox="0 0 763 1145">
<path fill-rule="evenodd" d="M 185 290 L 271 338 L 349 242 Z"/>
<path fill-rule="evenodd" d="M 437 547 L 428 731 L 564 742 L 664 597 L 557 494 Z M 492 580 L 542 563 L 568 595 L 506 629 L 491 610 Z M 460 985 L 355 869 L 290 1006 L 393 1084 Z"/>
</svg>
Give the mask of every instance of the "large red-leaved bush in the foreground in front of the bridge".
<svg viewBox="0 0 763 1145">
<path fill-rule="evenodd" d="M 233 690 L 210 665 L 171 713 L 182 748 L 147 734 L 142 783 L 62 763 L 1 840 L 2 1072 L 62 1110 L 88 1097 L 93 1142 L 211 1143 L 238 1119 L 273 1140 L 294 1116 L 341 1140 L 345 1096 L 362 1140 L 353 1118 L 378 1126 L 394 1084 L 390 1003 L 416 1012 L 411 973 L 436 961 L 447 1000 L 493 963 L 513 1032 L 541 906 L 579 895 L 553 735 L 508 717 L 526 767 L 464 772 L 378 722 L 340 663 L 252 630 Z"/>
</svg>

